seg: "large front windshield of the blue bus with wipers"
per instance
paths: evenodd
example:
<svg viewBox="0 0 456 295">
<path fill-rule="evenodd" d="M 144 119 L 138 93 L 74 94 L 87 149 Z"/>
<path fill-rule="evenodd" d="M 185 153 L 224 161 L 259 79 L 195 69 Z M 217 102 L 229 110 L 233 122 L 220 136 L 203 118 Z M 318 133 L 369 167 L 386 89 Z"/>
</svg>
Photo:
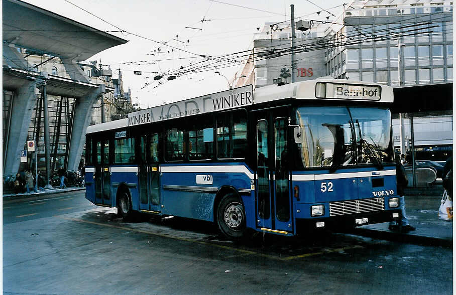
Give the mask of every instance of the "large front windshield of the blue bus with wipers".
<svg viewBox="0 0 456 295">
<path fill-rule="evenodd" d="M 297 168 L 393 163 L 391 113 L 366 107 L 299 107 Z M 299 159 L 300 158 L 300 159 Z M 299 161 L 300 160 L 300 161 Z"/>
</svg>

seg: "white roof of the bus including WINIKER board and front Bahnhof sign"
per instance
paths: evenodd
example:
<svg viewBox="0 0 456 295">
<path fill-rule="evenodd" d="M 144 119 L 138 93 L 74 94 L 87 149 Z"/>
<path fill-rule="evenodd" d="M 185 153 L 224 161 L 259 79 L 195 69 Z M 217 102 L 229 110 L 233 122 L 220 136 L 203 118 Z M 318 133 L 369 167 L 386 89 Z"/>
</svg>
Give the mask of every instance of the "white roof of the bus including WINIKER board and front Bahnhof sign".
<svg viewBox="0 0 456 295">
<path fill-rule="evenodd" d="M 376 83 L 318 78 L 315 80 L 259 87 L 243 86 L 196 98 L 151 107 L 128 114 L 128 118 L 87 127 L 87 133 L 232 109 L 284 98 L 393 102 L 393 88 Z"/>
</svg>

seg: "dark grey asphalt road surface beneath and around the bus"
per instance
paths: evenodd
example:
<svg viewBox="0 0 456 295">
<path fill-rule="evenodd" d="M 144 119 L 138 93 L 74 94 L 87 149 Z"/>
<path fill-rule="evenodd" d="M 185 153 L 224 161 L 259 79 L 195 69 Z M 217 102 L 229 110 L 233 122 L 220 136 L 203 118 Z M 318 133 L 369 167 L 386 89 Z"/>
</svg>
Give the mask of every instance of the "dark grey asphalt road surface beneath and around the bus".
<svg viewBox="0 0 456 295">
<path fill-rule="evenodd" d="M 124 222 L 83 191 L 33 201 L 4 204 L 5 294 L 452 293 L 450 248 L 341 233 L 234 243 L 207 222 Z"/>
</svg>

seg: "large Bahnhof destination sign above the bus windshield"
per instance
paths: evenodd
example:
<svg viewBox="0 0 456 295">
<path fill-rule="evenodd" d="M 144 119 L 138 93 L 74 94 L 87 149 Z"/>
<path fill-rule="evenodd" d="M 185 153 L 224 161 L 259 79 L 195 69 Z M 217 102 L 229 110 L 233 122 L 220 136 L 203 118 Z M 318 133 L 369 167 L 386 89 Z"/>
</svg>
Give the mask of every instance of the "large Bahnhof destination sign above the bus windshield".
<svg viewBox="0 0 456 295">
<path fill-rule="evenodd" d="M 320 84 L 320 83 L 318 83 Z M 370 85 L 353 85 L 325 83 L 324 98 L 380 100 L 381 87 Z M 318 87 L 317 87 L 318 88 Z M 324 89 L 324 88 L 323 88 Z M 323 98 L 323 97 L 319 97 Z"/>
</svg>

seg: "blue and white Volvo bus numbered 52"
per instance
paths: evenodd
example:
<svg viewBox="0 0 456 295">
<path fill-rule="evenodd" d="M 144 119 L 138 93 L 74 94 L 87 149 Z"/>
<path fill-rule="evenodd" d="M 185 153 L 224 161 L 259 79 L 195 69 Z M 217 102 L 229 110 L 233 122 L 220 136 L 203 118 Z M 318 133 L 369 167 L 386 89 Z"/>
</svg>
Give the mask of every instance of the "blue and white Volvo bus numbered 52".
<svg viewBox="0 0 456 295">
<path fill-rule="evenodd" d="M 87 128 L 86 198 L 232 239 L 399 220 L 392 102 L 389 86 L 317 79 L 139 110 Z"/>
</svg>

